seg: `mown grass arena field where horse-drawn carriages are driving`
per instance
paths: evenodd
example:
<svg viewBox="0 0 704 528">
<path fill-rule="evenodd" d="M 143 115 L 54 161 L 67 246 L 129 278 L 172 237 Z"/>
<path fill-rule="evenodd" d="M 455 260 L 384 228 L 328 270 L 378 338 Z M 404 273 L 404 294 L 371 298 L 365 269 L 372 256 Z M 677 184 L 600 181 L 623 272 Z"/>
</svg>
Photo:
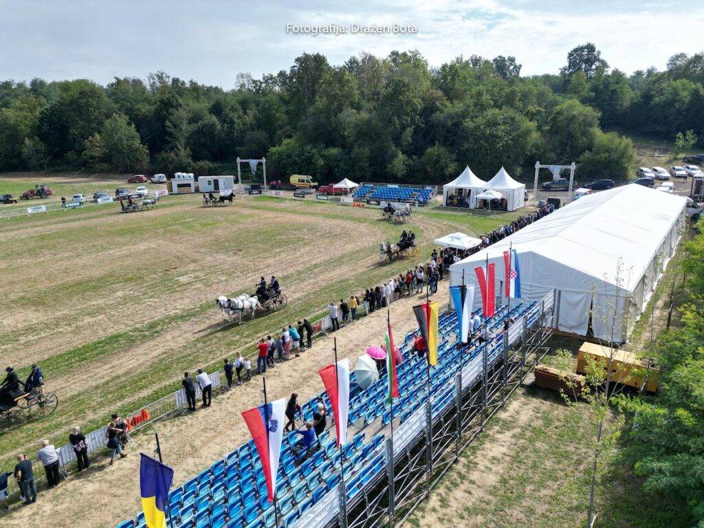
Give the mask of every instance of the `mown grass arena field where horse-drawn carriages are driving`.
<svg viewBox="0 0 704 528">
<path fill-rule="evenodd" d="M 42 178 L 69 195 L 121 183 L 57 180 Z M 32 181 L 0 178 L 0 192 Z M 222 208 L 200 202 L 170 196 L 158 209 L 129 215 L 106 205 L 0 220 L 0 356 L 20 376 L 39 363 L 61 400 L 50 417 L 0 436 L 0 467 L 21 450 L 33 453 L 40 438 L 65 443 L 74 423 L 89 431 L 113 411 L 169 394 L 184 370 L 251 353 L 263 334 L 315 318 L 329 301 L 427 259 L 442 234 L 478 234 L 513 218 L 422 210 L 405 227 L 417 233 L 423 256 L 382 265 L 379 242 L 396 239 L 402 227 L 379 220 L 377 209 L 268 197 Z M 223 328 L 215 296 L 251 292 L 260 275 L 277 275 L 287 308 Z"/>
</svg>

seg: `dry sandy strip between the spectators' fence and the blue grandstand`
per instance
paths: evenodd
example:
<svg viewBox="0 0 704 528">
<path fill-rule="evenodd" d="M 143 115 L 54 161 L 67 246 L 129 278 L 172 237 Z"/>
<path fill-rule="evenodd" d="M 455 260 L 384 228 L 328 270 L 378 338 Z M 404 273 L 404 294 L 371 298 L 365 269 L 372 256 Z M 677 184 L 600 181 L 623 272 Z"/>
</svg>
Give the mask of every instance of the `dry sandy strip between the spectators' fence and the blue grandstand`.
<svg viewBox="0 0 704 528">
<path fill-rule="evenodd" d="M 442 286 L 434 300 L 444 306 L 448 295 L 446 283 Z M 415 329 L 411 307 L 423 299 L 422 295 L 412 296 L 391 304 L 391 324 L 397 339 Z M 380 344 L 385 328 L 386 311 L 380 310 L 318 339 L 301 358 L 268 372 L 268 394 L 272 398 L 284 398 L 296 391 L 300 401 L 307 401 L 322 390 L 317 371 L 332 362 L 333 337 L 337 338 L 339 358 L 353 360 L 366 346 Z M 246 441 L 249 432 L 241 412 L 259 404 L 261 398 L 261 378 L 254 377 L 252 382 L 216 396 L 208 409 L 158 423 L 156 431 L 165 462 L 175 469 L 175 482 L 181 484 Z M 135 436 L 127 458 L 118 460 L 113 467 L 101 460 L 86 474 L 72 476 L 57 489 L 42 491 L 34 505 L 13 506 L 9 515 L 0 517 L 0 525 L 8 528 L 73 528 L 78 525 L 112 528 L 118 521 L 134 517 L 140 510 L 138 453 L 152 453 L 154 447 L 150 434 Z M 76 524 L 77 519 L 80 524 Z"/>
</svg>

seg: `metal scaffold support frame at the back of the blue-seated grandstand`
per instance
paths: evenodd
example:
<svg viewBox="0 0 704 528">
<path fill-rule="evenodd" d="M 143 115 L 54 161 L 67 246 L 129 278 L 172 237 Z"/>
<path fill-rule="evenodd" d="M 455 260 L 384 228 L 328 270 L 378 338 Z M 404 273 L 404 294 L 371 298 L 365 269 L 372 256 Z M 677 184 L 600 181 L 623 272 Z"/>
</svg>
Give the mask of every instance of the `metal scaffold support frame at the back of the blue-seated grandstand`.
<svg viewBox="0 0 704 528">
<path fill-rule="evenodd" d="M 548 351 L 551 338 L 555 291 L 550 291 L 536 305 L 532 315 L 522 318 L 520 326 L 507 331 L 498 354 L 481 356 L 482 375 L 472 371 L 472 365 L 460 366 L 455 376 L 438 389 L 435 401 L 452 393 L 451 403 L 423 408 L 422 427 L 414 429 L 405 442 L 386 439 L 384 444 L 386 471 L 346 499 L 346 523 L 339 516 L 327 517 L 327 527 L 378 528 L 401 527 L 430 494 L 439 479 L 453 467 L 460 454 L 484 430 L 486 422 L 503 407 L 524 377 L 540 363 Z M 517 335 L 520 328 L 520 335 Z M 509 346 L 513 343 L 513 346 Z M 476 368 L 477 365 L 474 365 Z M 472 373 L 475 372 L 475 373 Z M 463 383 L 463 378 L 468 380 Z M 421 424 L 418 424 L 419 426 Z M 432 444 L 429 449 L 428 443 Z M 403 446 L 403 447 L 401 447 Z M 381 452 L 381 449 L 379 453 Z M 432 458 L 429 458 L 432 453 Z M 341 498 L 341 501 L 344 499 Z M 322 524 L 317 524 L 322 526 Z M 296 525 L 294 524 L 294 527 Z"/>
</svg>

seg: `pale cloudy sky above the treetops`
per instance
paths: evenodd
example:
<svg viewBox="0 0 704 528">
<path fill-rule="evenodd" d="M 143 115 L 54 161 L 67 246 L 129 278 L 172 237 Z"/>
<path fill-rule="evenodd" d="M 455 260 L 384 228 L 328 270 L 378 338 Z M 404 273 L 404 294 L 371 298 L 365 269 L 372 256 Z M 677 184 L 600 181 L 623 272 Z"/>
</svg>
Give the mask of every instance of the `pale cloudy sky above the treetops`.
<svg viewBox="0 0 704 528">
<path fill-rule="evenodd" d="M 312 35 L 287 24 L 415 25 L 416 34 Z M 0 79 L 175 77 L 225 88 L 239 72 L 288 69 L 304 51 L 332 64 L 418 49 L 430 65 L 513 55 L 522 75 L 557 73 L 594 42 L 627 73 L 704 49 L 698 0 L 0 0 Z"/>
</svg>

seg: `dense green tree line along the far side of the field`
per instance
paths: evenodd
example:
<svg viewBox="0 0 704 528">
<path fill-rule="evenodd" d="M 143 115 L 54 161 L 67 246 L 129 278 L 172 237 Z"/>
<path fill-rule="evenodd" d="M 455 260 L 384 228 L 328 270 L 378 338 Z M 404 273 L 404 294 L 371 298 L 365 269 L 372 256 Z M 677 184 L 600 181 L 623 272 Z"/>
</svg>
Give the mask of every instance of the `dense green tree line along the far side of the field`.
<svg viewBox="0 0 704 528">
<path fill-rule="evenodd" d="M 558 74 L 520 70 L 511 56 L 431 68 L 417 51 L 392 51 L 343 65 L 302 54 L 289 70 L 239 74 L 227 90 L 163 72 L 106 86 L 6 80 L 0 170 L 205 175 L 266 156 L 278 178 L 441 184 L 466 164 L 481 177 L 503 165 L 527 178 L 539 159 L 576 161 L 580 179 L 624 180 L 634 149 L 616 130 L 704 137 L 704 54 L 627 76 L 584 44 Z"/>
</svg>

